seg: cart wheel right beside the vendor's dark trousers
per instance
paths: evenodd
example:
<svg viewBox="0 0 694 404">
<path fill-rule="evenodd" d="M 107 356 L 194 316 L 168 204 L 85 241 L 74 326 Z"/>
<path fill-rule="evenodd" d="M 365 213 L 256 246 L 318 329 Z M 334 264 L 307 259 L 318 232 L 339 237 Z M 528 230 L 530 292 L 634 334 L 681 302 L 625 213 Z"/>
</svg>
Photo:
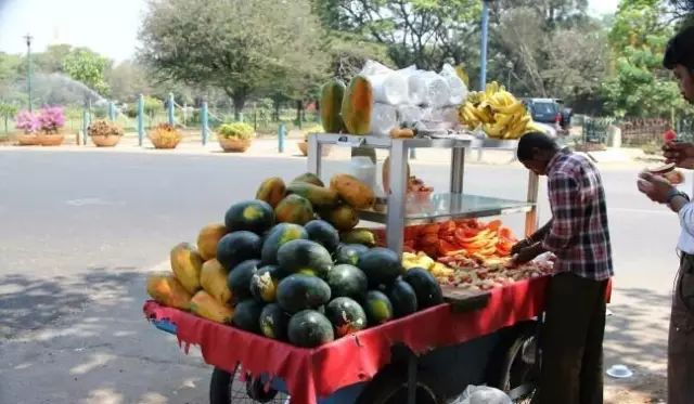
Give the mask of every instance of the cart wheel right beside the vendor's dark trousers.
<svg viewBox="0 0 694 404">
<path fill-rule="evenodd" d="M 532 402 L 540 368 L 536 354 L 536 336 L 530 331 L 518 336 L 506 351 L 499 385 L 514 403 Z"/>
</svg>

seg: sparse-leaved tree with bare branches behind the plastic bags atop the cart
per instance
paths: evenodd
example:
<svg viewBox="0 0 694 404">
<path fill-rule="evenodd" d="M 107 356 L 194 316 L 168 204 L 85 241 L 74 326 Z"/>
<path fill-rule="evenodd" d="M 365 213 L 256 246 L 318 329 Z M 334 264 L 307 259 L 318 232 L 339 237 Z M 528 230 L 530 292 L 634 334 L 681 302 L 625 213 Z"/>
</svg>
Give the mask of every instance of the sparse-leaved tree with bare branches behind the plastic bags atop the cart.
<svg viewBox="0 0 694 404">
<path fill-rule="evenodd" d="M 478 0 L 317 0 L 314 9 L 333 29 L 387 47 L 397 67 L 439 69 L 474 54 Z"/>
</svg>

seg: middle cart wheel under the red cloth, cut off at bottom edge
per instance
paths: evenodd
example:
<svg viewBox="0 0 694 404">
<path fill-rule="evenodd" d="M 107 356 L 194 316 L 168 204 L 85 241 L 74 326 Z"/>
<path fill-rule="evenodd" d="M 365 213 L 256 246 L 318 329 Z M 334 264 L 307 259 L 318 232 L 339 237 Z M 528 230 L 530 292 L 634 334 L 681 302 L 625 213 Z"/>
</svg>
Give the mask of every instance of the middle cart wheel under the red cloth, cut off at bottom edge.
<svg viewBox="0 0 694 404">
<path fill-rule="evenodd" d="M 361 392 L 357 404 L 403 404 L 408 402 L 407 374 L 387 367 L 380 372 Z M 441 403 L 434 389 L 422 380 L 416 381 L 416 404 Z"/>
</svg>

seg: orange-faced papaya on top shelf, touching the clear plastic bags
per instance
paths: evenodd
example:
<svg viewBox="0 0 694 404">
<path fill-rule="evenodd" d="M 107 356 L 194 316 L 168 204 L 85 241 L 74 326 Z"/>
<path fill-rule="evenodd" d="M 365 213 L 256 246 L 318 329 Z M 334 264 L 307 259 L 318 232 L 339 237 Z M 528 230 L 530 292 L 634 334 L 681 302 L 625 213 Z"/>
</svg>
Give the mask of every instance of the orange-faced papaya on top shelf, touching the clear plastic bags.
<svg viewBox="0 0 694 404">
<path fill-rule="evenodd" d="M 345 91 L 340 108 L 345 128 L 351 134 L 368 134 L 371 131 L 373 88 L 364 76 L 355 76 Z"/>
</svg>

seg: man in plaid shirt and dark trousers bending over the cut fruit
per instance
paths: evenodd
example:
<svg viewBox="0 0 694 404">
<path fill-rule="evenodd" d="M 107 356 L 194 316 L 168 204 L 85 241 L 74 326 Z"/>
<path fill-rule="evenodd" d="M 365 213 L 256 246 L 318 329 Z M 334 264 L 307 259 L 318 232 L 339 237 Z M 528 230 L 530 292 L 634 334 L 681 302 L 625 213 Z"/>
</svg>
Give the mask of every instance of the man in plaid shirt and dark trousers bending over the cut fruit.
<svg viewBox="0 0 694 404">
<path fill-rule="evenodd" d="M 518 142 L 518 160 L 548 177 L 552 219 L 512 249 L 516 263 L 556 256 L 542 330 L 539 404 L 603 402 L 605 290 L 613 276 L 607 208 L 600 172 L 542 133 Z"/>
</svg>

